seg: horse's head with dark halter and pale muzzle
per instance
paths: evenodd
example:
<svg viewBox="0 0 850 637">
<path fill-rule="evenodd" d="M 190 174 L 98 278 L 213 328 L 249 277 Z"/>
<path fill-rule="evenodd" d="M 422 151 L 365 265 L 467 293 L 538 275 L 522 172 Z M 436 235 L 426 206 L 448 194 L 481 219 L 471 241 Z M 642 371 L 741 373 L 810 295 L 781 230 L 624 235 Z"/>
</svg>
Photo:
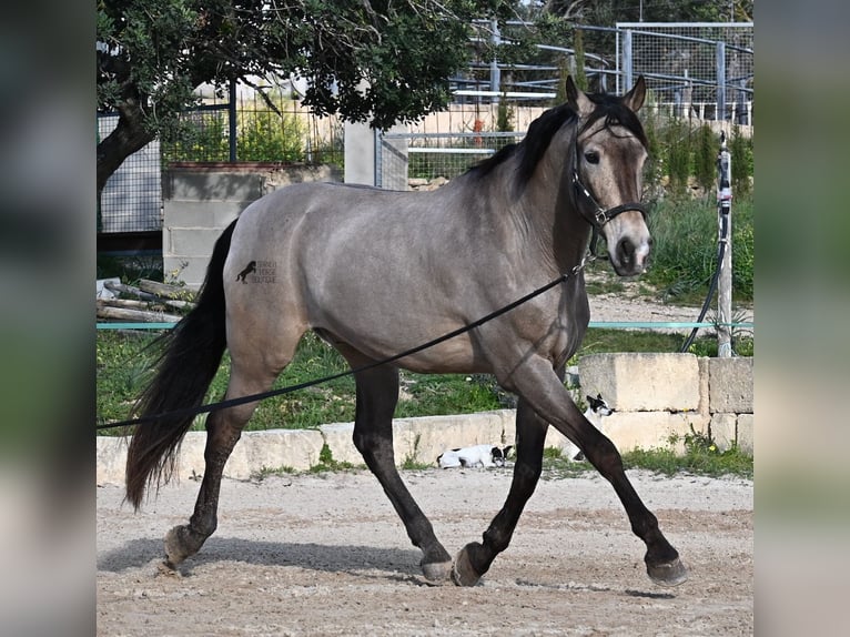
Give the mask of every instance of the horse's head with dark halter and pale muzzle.
<svg viewBox="0 0 850 637">
<path fill-rule="evenodd" d="M 605 237 L 617 274 L 640 274 L 652 244 L 640 204 L 647 142 L 635 114 L 646 97 L 644 78 L 623 98 L 587 95 L 568 78 L 567 94 L 579 118 L 573 158 L 576 203 Z"/>
</svg>

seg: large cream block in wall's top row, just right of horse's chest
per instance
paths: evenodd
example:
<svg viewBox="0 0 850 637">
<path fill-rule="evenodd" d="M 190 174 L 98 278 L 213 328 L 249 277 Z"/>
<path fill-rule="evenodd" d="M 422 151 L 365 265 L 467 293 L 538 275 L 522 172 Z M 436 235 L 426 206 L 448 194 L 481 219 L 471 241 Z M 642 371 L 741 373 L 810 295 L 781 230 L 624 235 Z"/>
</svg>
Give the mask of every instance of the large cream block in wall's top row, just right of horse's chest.
<svg viewBox="0 0 850 637">
<path fill-rule="evenodd" d="M 578 362 L 581 391 L 621 412 L 696 412 L 699 363 L 694 354 L 590 354 Z"/>
</svg>

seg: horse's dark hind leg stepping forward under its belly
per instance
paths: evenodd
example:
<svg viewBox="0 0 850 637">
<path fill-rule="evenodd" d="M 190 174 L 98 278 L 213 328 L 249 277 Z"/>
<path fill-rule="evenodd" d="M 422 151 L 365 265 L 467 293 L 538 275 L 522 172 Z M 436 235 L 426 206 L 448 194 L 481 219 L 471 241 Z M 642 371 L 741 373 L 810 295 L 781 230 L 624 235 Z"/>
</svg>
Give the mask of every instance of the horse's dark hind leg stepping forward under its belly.
<svg viewBox="0 0 850 637">
<path fill-rule="evenodd" d="M 337 344 L 352 367 L 371 361 L 347 346 Z M 389 502 L 402 518 L 407 536 L 422 549 L 419 563 L 425 577 L 446 580 L 452 572 L 452 556 L 434 535 L 434 528 L 413 499 L 395 467 L 393 453 L 393 413 L 398 402 L 398 371 L 382 365 L 355 375 L 357 410 L 354 422 L 354 446 L 363 455 L 370 471 L 384 487 Z"/>
</svg>

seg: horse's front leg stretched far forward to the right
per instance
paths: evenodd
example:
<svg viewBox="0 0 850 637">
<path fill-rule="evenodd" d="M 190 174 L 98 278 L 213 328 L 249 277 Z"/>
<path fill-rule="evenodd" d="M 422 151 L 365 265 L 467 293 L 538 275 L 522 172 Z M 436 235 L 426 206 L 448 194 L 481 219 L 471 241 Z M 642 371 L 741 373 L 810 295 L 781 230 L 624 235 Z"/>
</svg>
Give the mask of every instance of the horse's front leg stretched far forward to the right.
<svg viewBox="0 0 850 637">
<path fill-rule="evenodd" d="M 503 386 L 525 398 L 542 418 L 577 444 L 590 464 L 611 483 L 629 517 L 631 530 L 646 544 L 644 560 L 649 577 L 656 584 L 666 586 L 685 582 L 688 572 L 678 552 L 667 542 L 658 528 L 658 519 L 644 505 L 626 477 L 619 452 L 576 406 L 550 363 L 540 356 L 528 357 L 499 381 Z"/>
</svg>

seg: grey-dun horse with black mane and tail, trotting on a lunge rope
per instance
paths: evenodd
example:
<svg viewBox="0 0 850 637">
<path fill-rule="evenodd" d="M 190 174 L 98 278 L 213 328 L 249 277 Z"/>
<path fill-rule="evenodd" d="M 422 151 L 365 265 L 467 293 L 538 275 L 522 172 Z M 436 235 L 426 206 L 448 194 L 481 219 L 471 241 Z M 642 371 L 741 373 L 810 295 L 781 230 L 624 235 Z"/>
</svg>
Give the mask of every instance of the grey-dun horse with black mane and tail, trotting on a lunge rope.
<svg viewBox="0 0 850 637">
<path fill-rule="evenodd" d="M 487 573 L 534 493 L 554 426 L 613 485 L 646 545 L 650 579 L 685 582 L 686 566 L 619 452 L 564 385 L 589 321 L 581 267 L 590 235 L 606 240 L 617 274 L 647 265 L 651 236 L 640 203 L 647 139 L 637 117 L 645 95 L 642 77 L 623 97 L 585 93 L 570 78 L 566 102 L 537 118 L 522 142 L 436 191 L 301 183 L 250 204 L 217 239 L 196 306 L 162 336 L 156 372 L 134 408 L 150 422 L 135 427 L 128 448 L 127 501 L 138 510 L 145 489 L 173 477 L 193 421 L 185 411 L 203 404 L 225 348 L 225 400 L 244 398 L 272 387 L 312 330 L 355 371 L 354 445 L 422 550 L 427 580 L 473 586 Z M 558 276 L 557 285 L 492 321 L 381 364 Z M 518 397 L 507 498 L 482 540 L 454 559 L 395 466 L 399 367 L 493 374 Z M 166 566 L 196 554 L 215 530 L 224 465 L 256 405 L 208 414 L 202 484 L 189 523 L 165 535 Z"/>
</svg>

